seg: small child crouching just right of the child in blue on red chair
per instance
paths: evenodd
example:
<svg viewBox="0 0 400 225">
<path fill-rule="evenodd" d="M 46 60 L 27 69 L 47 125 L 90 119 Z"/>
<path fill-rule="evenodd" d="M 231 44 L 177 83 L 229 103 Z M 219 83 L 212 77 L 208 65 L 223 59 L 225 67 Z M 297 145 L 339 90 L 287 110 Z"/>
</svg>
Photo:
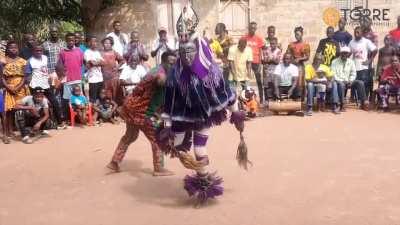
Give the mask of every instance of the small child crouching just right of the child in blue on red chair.
<svg viewBox="0 0 400 225">
<path fill-rule="evenodd" d="M 117 123 L 117 121 L 114 119 L 117 107 L 117 103 L 107 96 L 107 91 L 105 89 L 102 89 L 100 91 L 99 98 L 96 100 L 96 103 L 93 106 L 94 121 L 98 119 L 101 122 L 109 121 L 112 124 Z"/>
</svg>

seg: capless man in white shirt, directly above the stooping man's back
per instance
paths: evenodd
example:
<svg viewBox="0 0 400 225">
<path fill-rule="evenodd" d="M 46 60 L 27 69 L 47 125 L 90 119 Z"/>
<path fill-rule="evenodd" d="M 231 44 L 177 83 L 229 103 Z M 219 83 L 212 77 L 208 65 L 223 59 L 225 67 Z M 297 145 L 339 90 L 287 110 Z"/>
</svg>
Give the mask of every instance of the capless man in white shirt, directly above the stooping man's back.
<svg viewBox="0 0 400 225">
<path fill-rule="evenodd" d="M 125 87 L 125 95 L 132 94 L 136 85 L 146 76 L 147 72 L 144 66 L 140 64 L 140 56 L 133 54 L 128 64 L 125 64 L 119 79 L 121 86 Z"/>
</svg>

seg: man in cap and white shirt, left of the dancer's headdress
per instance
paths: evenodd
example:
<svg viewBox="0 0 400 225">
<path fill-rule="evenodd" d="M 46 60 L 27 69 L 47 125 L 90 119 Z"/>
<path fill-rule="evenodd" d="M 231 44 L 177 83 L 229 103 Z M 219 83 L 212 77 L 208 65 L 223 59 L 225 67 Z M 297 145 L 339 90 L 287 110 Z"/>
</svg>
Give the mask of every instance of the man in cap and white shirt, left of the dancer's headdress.
<svg viewBox="0 0 400 225">
<path fill-rule="evenodd" d="M 160 27 L 158 29 L 158 39 L 154 41 L 151 49 L 151 57 L 155 58 L 156 65 L 161 64 L 161 55 L 166 51 L 175 51 L 175 40 L 168 37 L 165 27 Z"/>
</svg>

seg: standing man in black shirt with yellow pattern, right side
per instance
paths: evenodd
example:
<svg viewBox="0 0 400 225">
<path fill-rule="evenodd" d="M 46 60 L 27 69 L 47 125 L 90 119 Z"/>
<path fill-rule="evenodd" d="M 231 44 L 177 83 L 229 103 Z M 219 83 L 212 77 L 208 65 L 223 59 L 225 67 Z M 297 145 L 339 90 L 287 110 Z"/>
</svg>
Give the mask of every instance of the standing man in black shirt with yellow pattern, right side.
<svg viewBox="0 0 400 225">
<path fill-rule="evenodd" d="M 328 27 L 326 29 L 327 38 L 319 41 L 317 54 L 322 54 L 324 57 L 324 65 L 330 66 L 332 61 L 339 56 L 339 43 L 333 39 L 334 28 Z"/>
</svg>

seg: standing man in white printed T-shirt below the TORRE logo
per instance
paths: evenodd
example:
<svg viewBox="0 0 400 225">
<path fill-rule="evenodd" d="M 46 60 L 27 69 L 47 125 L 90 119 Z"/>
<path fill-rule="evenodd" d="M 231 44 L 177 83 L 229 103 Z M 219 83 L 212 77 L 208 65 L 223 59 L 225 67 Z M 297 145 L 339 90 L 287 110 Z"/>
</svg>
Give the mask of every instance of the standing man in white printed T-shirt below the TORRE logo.
<svg viewBox="0 0 400 225">
<path fill-rule="evenodd" d="M 356 80 L 364 82 L 366 97 L 368 98 L 373 89 L 373 77 L 370 66 L 374 61 L 378 49 L 374 43 L 363 37 L 363 31 L 359 26 L 354 29 L 354 39 L 350 41 L 349 47 L 356 65 Z"/>
</svg>

